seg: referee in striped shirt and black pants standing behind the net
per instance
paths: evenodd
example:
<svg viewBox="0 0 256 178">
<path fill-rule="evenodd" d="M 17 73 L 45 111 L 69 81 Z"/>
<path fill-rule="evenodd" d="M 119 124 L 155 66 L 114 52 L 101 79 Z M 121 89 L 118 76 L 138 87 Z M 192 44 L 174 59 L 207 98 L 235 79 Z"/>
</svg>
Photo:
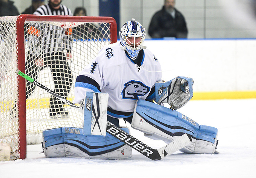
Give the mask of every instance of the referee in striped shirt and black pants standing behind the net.
<svg viewBox="0 0 256 178">
<path fill-rule="evenodd" d="M 61 0 L 49 0 L 49 3 L 40 6 L 34 15 L 72 16 L 73 14 L 69 8 L 61 4 Z M 38 72 L 44 67 L 50 67 L 55 92 L 66 98 L 72 85 L 72 73 L 67 63 L 67 59 L 72 58 L 72 33 L 68 29 L 43 23 L 35 23 L 29 27 L 29 30 L 26 74 L 37 80 Z M 35 85 L 27 81 L 26 87 L 26 98 L 28 98 L 34 91 Z M 52 119 L 69 117 L 63 104 L 62 101 L 51 96 L 49 115 Z"/>
</svg>

